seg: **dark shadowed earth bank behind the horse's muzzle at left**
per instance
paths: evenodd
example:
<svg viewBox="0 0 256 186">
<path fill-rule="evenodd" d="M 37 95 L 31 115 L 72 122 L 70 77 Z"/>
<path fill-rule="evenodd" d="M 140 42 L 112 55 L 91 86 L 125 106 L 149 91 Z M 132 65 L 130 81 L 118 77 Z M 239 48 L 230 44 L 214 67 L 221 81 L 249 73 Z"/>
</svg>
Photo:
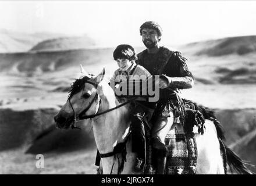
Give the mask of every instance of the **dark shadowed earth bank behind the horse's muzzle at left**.
<svg viewBox="0 0 256 186">
<path fill-rule="evenodd" d="M 83 130 L 57 130 L 55 109 L 0 109 L 0 152 L 30 145 L 27 153 L 74 151 L 95 146 L 91 126 Z"/>
</svg>

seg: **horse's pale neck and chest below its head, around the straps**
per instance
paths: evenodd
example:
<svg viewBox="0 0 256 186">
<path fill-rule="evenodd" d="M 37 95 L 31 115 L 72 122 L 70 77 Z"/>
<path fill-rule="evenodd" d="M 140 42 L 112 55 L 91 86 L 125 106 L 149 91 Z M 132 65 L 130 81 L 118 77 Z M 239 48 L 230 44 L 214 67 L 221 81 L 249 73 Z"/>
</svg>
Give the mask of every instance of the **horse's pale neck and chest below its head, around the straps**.
<svg viewBox="0 0 256 186">
<path fill-rule="evenodd" d="M 109 88 L 106 86 L 106 88 Z M 120 105 L 120 102 L 116 99 L 115 94 L 112 89 L 107 90 L 109 94 L 103 94 L 107 96 L 102 96 L 102 104 L 100 106 L 99 112 L 115 108 L 115 106 Z M 129 104 L 128 104 L 129 105 Z M 105 115 L 99 116 L 94 120 L 94 137 L 97 144 L 99 153 L 109 153 L 113 152 L 113 148 L 119 142 L 123 142 L 127 138 L 127 134 L 130 130 L 130 113 L 128 110 L 128 105 L 122 106 L 118 109 L 112 110 Z M 124 174 L 131 174 L 133 164 L 136 158 L 135 153 L 131 152 L 131 141 L 126 143 L 127 155 L 125 167 L 122 171 Z M 117 174 L 119 170 L 119 163 L 124 157 L 118 155 L 118 158 L 114 156 L 108 158 L 102 158 L 102 168 L 104 174 Z M 113 161 L 115 160 L 115 162 Z"/>
</svg>

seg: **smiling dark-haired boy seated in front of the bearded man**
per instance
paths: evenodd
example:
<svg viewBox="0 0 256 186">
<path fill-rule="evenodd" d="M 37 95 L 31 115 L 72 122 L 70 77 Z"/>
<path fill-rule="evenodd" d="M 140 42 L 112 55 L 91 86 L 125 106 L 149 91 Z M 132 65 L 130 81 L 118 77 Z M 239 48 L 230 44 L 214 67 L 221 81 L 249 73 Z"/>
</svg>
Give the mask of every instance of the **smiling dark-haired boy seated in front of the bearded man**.
<svg viewBox="0 0 256 186">
<path fill-rule="evenodd" d="M 134 48 L 130 45 L 119 45 L 116 47 L 113 52 L 113 58 L 118 63 L 119 67 L 110 80 L 111 84 L 115 85 L 115 87 L 118 87 L 123 80 L 136 80 L 136 75 L 137 77 L 149 77 L 151 75 L 143 66 L 136 64 L 137 55 L 134 52 Z M 141 100 L 141 97 L 138 97 L 138 100 Z M 143 105 L 147 104 L 146 101 L 138 102 Z M 136 172 L 143 170 L 145 164 L 145 131 L 143 116 L 147 111 L 143 106 L 135 104 L 135 108 L 133 108 L 131 114 L 131 137 L 133 140 L 132 151 L 137 152 L 137 159 L 134 166 L 134 171 Z"/>
</svg>

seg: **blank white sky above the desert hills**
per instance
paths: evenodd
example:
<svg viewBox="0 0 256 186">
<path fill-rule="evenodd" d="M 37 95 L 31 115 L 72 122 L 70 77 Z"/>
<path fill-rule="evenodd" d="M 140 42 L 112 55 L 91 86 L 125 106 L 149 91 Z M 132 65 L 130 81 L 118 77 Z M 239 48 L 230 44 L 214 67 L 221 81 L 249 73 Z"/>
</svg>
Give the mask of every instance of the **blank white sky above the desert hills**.
<svg viewBox="0 0 256 186">
<path fill-rule="evenodd" d="M 163 45 L 256 35 L 256 1 L 0 1 L 0 29 L 87 34 L 109 46 L 143 46 L 148 20 L 161 25 Z"/>
</svg>

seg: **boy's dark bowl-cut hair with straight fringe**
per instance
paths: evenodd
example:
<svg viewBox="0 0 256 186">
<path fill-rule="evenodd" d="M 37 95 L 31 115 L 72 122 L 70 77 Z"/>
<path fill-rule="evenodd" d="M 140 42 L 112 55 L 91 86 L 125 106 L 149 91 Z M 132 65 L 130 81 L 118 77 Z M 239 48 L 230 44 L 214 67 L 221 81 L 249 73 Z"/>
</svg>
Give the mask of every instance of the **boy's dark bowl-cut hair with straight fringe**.
<svg viewBox="0 0 256 186">
<path fill-rule="evenodd" d="M 113 58 L 118 59 L 129 59 L 136 61 L 137 55 L 134 51 L 134 48 L 131 45 L 118 45 L 115 51 L 113 52 Z"/>
</svg>

